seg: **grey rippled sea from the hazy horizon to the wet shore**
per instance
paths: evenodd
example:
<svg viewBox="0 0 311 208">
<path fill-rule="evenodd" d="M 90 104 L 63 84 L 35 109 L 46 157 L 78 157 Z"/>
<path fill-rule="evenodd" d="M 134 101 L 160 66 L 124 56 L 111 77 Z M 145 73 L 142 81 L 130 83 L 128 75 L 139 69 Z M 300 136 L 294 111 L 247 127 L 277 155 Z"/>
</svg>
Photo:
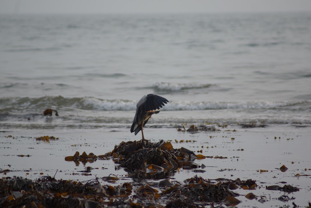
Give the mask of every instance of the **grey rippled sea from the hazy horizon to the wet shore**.
<svg viewBox="0 0 311 208">
<path fill-rule="evenodd" d="M 149 93 L 149 128 L 308 127 L 310 55 L 308 13 L 0 15 L 0 130 L 129 131 Z"/>
</svg>

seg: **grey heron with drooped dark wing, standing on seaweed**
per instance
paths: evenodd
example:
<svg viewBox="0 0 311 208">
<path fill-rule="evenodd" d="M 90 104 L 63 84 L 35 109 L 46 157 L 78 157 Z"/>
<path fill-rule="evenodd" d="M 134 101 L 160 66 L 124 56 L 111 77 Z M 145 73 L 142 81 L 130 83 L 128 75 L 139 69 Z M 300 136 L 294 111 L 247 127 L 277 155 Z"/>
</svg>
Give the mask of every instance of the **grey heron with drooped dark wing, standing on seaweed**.
<svg viewBox="0 0 311 208">
<path fill-rule="evenodd" d="M 151 118 L 151 115 L 160 113 L 160 108 L 162 108 L 165 103 L 167 104 L 167 102 L 169 102 L 167 99 L 156 94 L 144 95 L 136 105 L 136 114 L 131 126 L 131 133 L 135 132 L 136 135 L 140 130 L 142 130 Z M 149 141 L 144 138 L 143 131 L 142 140 Z"/>
</svg>

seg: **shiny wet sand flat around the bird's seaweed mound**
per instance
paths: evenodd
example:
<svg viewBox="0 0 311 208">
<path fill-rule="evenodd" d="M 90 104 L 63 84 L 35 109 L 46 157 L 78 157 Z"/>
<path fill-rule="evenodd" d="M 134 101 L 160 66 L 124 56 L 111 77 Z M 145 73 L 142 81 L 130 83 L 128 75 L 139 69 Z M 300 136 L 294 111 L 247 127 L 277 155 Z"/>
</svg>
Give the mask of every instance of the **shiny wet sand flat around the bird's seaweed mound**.
<svg viewBox="0 0 311 208">
<path fill-rule="evenodd" d="M 189 125 L 186 126 L 188 127 Z M 196 154 L 209 156 L 202 160 L 194 160 L 195 163 L 204 164 L 206 167 L 191 170 L 180 168 L 170 177 L 172 181 L 183 184 L 184 180 L 195 175 L 211 181 L 217 178 L 252 179 L 258 185 L 256 189 L 233 190 L 240 195 L 236 197 L 241 201 L 239 207 L 291 207 L 293 202 L 300 207 L 308 205 L 311 191 L 309 127 L 242 128 L 236 125 L 226 128 L 216 126 L 216 128 L 220 131 L 189 133 L 178 132 L 176 128 L 146 128 L 144 134 L 152 142 L 161 139 L 171 140 L 174 148 L 184 147 Z M 114 146 L 122 141 L 141 138 L 140 134 L 137 136 L 130 134 L 129 129 L 118 128 L 117 130 L 2 131 L 0 133 L 2 158 L 0 175 L 1 177 L 21 176 L 32 180 L 55 175 L 55 179 L 86 183 L 96 177 L 102 178 L 112 174 L 111 176 L 116 176 L 119 180 L 107 182 L 100 179 L 100 183 L 116 186 L 129 182 L 133 185 L 133 190 L 141 185 L 158 181 L 132 178 L 123 168 L 116 168 L 119 165 L 112 159 L 96 159 L 86 163 L 65 161 L 65 157 L 74 155 L 76 151 L 80 154 L 92 152 L 95 155 L 103 155 L 112 151 Z M 49 139 L 49 141 L 36 139 L 44 135 L 54 136 L 56 139 Z M 288 170 L 282 172 L 279 169 L 282 165 L 285 165 Z M 94 169 L 88 171 L 87 167 Z M 284 184 L 298 187 L 300 190 L 286 193 L 266 189 L 266 186 L 284 186 Z M 163 187 L 157 189 L 160 192 L 165 190 Z M 258 201 L 260 197 L 257 200 L 247 199 L 245 195 L 250 192 L 257 196 L 265 196 L 265 202 Z M 278 198 L 281 196 L 288 196 L 289 200 L 280 201 Z"/>
</svg>

